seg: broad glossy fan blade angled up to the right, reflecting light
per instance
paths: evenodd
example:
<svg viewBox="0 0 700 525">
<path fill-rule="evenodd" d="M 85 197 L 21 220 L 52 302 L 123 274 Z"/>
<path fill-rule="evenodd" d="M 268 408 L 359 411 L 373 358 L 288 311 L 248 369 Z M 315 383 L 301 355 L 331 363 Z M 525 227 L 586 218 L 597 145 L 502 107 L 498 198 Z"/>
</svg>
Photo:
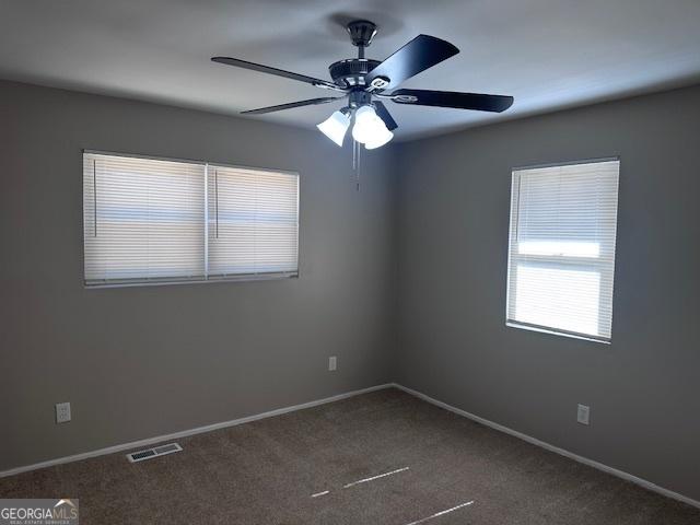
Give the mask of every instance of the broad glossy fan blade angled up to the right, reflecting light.
<svg viewBox="0 0 700 525">
<path fill-rule="evenodd" d="M 436 63 L 459 52 L 448 42 L 429 35 L 418 35 L 411 42 L 394 52 L 389 58 L 370 71 L 364 81 L 368 85 L 377 77 L 388 79 L 382 90 L 396 88 L 406 79 L 432 68 Z"/>
</svg>

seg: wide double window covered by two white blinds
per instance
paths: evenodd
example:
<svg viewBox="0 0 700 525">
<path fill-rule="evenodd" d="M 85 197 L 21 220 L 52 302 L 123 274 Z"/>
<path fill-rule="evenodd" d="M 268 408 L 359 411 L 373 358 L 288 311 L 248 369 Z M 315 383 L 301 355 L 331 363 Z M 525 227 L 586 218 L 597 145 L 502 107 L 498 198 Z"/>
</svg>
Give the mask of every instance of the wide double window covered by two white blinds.
<svg viewBox="0 0 700 525">
<path fill-rule="evenodd" d="M 85 284 L 294 277 L 298 201 L 292 173 L 85 152 Z"/>
</svg>

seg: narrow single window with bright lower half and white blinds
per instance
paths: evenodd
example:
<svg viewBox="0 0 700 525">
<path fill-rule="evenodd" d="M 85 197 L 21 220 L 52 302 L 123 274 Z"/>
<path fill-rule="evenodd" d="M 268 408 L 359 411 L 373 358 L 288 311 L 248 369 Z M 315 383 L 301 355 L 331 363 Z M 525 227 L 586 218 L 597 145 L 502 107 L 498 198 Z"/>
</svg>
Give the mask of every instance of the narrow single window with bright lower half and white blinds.
<svg viewBox="0 0 700 525">
<path fill-rule="evenodd" d="M 607 342 L 619 161 L 515 170 L 506 324 Z"/>
</svg>

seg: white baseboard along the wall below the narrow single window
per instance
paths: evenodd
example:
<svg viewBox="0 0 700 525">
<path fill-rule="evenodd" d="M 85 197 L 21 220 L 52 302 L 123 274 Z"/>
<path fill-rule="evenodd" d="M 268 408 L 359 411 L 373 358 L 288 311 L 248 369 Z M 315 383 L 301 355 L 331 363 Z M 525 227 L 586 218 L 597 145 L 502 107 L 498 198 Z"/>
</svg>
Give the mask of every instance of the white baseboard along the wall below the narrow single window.
<svg viewBox="0 0 700 525">
<path fill-rule="evenodd" d="M 438 399 L 434 399 L 423 393 L 420 393 L 418 390 L 413 390 L 412 388 L 408 388 L 404 385 L 399 385 L 397 383 L 394 383 L 392 386 L 395 386 L 396 388 L 406 392 L 407 394 L 410 394 L 412 396 L 418 397 L 419 399 L 422 399 L 424 401 L 428 401 L 432 405 L 435 405 L 440 408 L 444 408 L 445 410 L 450 410 L 451 412 L 457 413 L 459 416 L 463 416 L 465 418 L 471 419 L 472 421 L 476 421 L 478 423 L 481 423 L 486 427 L 490 427 L 494 430 L 498 430 L 500 432 L 504 432 L 506 434 L 510 434 L 514 438 L 518 438 L 523 441 L 526 441 L 528 443 L 532 443 L 533 445 L 537 445 L 541 448 L 545 448 L 547 451 L 553 452 L 556 454 L 559 454 L 561 456 L 568 457 L 570 459 L 573 459 L 574 462 L 579 462 L 582 463 L 584 465 L 587 465 L 590 467 L 596 468 L 598 470 L 602 470 L 604 472 L 607 474 L 611 474 L 612 476 L 617 476 L 618 478 L 625 479 L 627 481 L 631 481 L 634 485 L 639 485 L 640 487 L 643 487 L 648 490 L 651 490 L 652 492 L 657 492 L 662 495 L 665 495 L 667 498 L 673 498 L 674 500 L 678 500 L 678 501 L 682 501 L 684 503 L 687 503 L 689 505 L 696 506 L 698 509 L 700 509 L 700 501 L 693 500 L 692 498 L 688 498 L 687 495 L 682 495 L 679 494 L 678 492 L 674 492 L 673 490 L 668 490 L 668 489 L 664 489 L 663 487 L 660 487 L 655 483 L 652 483 L 651 481 L 646 481 L 645 479 L 642 478 L 638 478 L 637 476 L 633 476 L 631 474 L 625 472 L 622 470 L 618 470 L 617 468 L 614 467 L 609 467 L 607 465 L 604 465 L 602 463 L 595 462 L 593 459 L 588 459 L 587 457 L 583 457 L 580 456 L 578 454 L 574 454 L 573 452 L 569 452 L 564 448 L 560 448 L 558 446 L 555 445 L 550 445 L 549 443 L 546 443 L 544 441 L 540 441 L 536 438 L 533 438 L 530 435 L 527 434 L 523 434 L 522 432 L 518 432 L 516 430 L 513 429 L 509 429 L 508 427 L 503 427 L 502 424 L 499 423 L 494 423 L 493 421 L 489 421 L 488 419 L 483 419 L 479 416 L 476 416 L 474 413 L 467 412 L 465 410 L 462 410 L 459 408 L 453 407 L 452 405 L 447 405 L 446 402 L 443 401 L 439 401 Z"/>
</svg>

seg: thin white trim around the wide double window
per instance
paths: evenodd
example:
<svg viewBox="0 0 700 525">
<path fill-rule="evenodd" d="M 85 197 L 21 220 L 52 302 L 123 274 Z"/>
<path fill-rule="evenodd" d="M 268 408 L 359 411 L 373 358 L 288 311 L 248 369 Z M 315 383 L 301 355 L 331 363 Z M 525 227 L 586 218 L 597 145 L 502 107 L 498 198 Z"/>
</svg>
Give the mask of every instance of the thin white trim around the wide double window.
<svg viewBox="0 0 700 525">
<path fill-rule="evenodd" d="M 83 149 L 81 150 L 81 162 L 82 158 L 85 154 L 95 154 L 95 155 L 110 155 L 110 156 L 122 156 L 125 159 L 145 159 L 151 161 L 168 161 L 168 162 L 183 162 L 188 164 L 201 164 L 201 165 L 212 165 L 212 166 L 221 166 L 221 167 L 231 167 L 237 170 L 254 170 L 261 172 L 272 172 L 272 173 L 281 173 L 284 175 L 292 175 L 296 177 L 296 271 L 284 271 L 284 272 L 269 272 L 269 273 L 229 273 L 225 276 L 206 276 L 205 279 L 201 277 L 192 277 L 192 278 L 139 278 L 137 279 L 110 279 L 105 280 L 104 282 L 91 282 L 90 284 L 85 280 L 84 268 L 85 268 L 85 243 L 84 238 L 81 242 L 82 245 L 82 281 L 83 289 L 85 290 L 101 290 L 107 288 L 137 288 L 137 287 L 164 287 L 171 284 L 210 284 L 210 283 L 222 283 L 222 282 L 248 282 L 248 281 L 279 281 L 284 279 L 299 279 L 300 277 L 300 268 L 301 268 L 301 218 L 300 218 L 300 199 L 301 199 L 301 185 L 302 177 L 301 174 L 293 170 L 280 170 L 275 167 L 259 167 L 259 166 L 246 166 L 242 164 L 231 164 L 219 161 L 205 161 L 201 159 L 177 159 L 173 156 L 159 156 L 159 155 L 143 155 L 139 153 L 126 153 L 126 152 L 115 152 L 107 150 L 92 150 L 92 149 Z M 82 185 L 81 185 L 82 186 Z M 82 201 L 84 202 L 85 196 L 81 192 Z M 208 208 L 208 207 L 205 207 Z M 81 214 L 81 225 L 84 235 L 85 231 L 85 222 L 84 222 L 84 210 Z M 206 224 L 208 228 L 208 223 Z M 208 241 L 208 240 L 207 240 Z"/>
</svg>

